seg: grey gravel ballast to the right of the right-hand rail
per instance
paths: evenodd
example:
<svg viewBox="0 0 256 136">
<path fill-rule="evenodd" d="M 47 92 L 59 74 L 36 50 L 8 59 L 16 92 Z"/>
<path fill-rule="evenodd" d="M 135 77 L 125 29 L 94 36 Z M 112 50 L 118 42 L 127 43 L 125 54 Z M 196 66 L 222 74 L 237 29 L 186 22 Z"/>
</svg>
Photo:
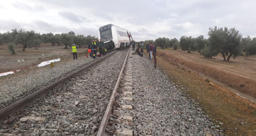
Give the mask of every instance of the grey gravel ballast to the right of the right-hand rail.
<svg viewBox="0 0 256 136">
<path fill-rule="evenodd" d="M 225 129 L 213 124 L 195 100 L 184 97 L 178 85 L 155 69 L 154 60 L 131 53 L 106 129 L 110 135 L 132 130 L 133 136 L 222 136 Z M 126 74 L 129 72 L 132 75 Z M 132 76 L 131 80 L 127 76 Z M 125 95 L 124 91 L 132 95 Z M 132 110 L 120 108 L 121 105 L 131 105 Z M 122 116 L 132 116 L 132 123 Z"/>
</svg>

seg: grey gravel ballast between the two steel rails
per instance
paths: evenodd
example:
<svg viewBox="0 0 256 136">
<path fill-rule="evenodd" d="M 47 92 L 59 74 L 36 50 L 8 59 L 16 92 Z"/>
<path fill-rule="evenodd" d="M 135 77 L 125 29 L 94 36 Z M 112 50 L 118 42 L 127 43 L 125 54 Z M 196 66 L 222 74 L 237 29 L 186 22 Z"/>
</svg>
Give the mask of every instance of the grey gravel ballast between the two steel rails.
<svg viewBox="0 0 256 136">
<path fill-rule="evenodd" d="M 128 49 L 118 51 L 6 118 L 1 133 L 95 136 Z M 34 117 L 34 118 L 33 118 Z M 0 135 L 1 135 L 0 133 Z"/>
</svg>

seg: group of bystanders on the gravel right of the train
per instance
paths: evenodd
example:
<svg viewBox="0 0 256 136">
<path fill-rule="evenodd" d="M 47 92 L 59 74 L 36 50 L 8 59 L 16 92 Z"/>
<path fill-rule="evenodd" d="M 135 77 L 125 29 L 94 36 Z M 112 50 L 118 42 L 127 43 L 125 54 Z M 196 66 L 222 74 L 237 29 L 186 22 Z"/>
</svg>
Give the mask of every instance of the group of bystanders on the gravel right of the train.
<svg viewBox="0 0 256 136">
<path fill-rule="evenodd" d="M 135 45 L 136 45 L 136 43 L 133 40 L 132 41 L 132 51 L 135 50 Z M 143 47 L 143 44 L 138 43 L 138 47 L 135 50 L 135 52 L 137 52 L 141 57 L 143 57 L 143 49 L 141 48 L 141 46 Z M 156 58 L 156 44 L 154 44 L 154 45 L 152 43 L 147 44 L 146 49 L 147 49 L 147 53 L 149 53 L 149 59 L 152 60 L 153 56 L 154 56 L 154 59 L 155 59 Z"/>
</svg>

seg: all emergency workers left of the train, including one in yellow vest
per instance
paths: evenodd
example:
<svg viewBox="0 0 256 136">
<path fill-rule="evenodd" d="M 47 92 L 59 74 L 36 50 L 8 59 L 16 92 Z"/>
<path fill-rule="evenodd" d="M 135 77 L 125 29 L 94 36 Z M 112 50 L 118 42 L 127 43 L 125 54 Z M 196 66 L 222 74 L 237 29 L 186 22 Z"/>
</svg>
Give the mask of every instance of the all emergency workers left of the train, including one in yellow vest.
<svg viewBox="0 0 256 136">
<path fill-rule="evenodd" d="M 97 52 L 98 52 L 98 48 L 100 51 L 99 57 L 101 57 L 101 55 L 105 55 L 107 52 L 107 49 L 104 48 L 105 44 L 104 42 L 102 42 L 102 40 L 100 39 L 100 42 L 97 43 L 97 39 L 93 39 L 92 42 L 88 45 L 88 53 L 90 53 L 90 56 L 95 59 Z M 75 60 L 75 57 L 77 59 L 77 54 L 76 54 L 76 45 L 73 44 L 72 46 L 72 52 L 73 52 L 73 59 Z"/>
</svg>

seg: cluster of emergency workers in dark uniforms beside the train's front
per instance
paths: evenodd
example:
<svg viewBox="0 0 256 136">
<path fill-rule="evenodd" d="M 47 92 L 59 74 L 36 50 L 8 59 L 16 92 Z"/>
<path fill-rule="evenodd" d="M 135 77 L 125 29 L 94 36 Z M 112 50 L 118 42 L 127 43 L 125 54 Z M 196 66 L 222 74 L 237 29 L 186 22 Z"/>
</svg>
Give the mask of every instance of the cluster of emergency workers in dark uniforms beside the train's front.
<svg viewBox="0 0 256 136">
<path fill-rule="evenodd" d="M 92 42 L 88 45 L 88 52 L 90 53 L 90 56 L 95 59 L 97 55 L 97 51 L 99 48 L 100 56 L 105 55 L 107 49 L 105 48 L 104 42 L 100 39 L 100 42 L 97 44 L 97 39 L 92 39 Z"/>
</svg>

